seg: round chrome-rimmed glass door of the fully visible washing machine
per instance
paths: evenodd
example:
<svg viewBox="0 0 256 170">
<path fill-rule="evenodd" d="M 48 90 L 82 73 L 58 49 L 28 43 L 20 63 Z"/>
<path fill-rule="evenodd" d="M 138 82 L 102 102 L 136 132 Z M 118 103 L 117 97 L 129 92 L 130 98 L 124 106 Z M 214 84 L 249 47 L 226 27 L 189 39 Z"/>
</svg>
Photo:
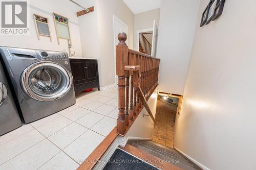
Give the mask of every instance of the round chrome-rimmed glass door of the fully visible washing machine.
<svg viewBox="0 0 256 170">
<path fill-rule="evenodd" d="M 70 71 L 54 62 L 37 62 L 23 71 L 20 84 L 30 98 L 51 102 L 62 98 L 72 87 Z"/>
</svg>

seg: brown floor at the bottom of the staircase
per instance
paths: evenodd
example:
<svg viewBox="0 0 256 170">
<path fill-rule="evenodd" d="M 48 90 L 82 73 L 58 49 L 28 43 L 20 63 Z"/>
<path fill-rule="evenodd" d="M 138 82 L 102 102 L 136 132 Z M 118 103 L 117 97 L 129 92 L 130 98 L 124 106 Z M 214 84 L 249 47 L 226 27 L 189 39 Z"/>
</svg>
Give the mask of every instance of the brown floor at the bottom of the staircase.
<svg viewBox="0 0 256 170">
<path fill-rule="evenodd" d="M 156 122 L 154 127 L 153 141 L 174 147 L 174 116 L 176 115 L 177 105 L 157 100 Z"/>
</svg>

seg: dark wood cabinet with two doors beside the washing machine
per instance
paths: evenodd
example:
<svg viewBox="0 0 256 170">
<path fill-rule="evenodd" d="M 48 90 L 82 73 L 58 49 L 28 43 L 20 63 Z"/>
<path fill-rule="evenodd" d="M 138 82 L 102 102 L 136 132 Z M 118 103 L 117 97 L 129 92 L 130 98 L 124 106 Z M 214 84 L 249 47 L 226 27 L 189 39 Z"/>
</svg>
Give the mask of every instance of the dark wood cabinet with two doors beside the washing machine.
<svg viewBox="0 0 256 170">
<path fill-rule="evenodd" d="M 97 87 L 99 90 L 97 60 L 70 58 L 70 65 L 76 94 L 88 88 Z"/>
</svg>

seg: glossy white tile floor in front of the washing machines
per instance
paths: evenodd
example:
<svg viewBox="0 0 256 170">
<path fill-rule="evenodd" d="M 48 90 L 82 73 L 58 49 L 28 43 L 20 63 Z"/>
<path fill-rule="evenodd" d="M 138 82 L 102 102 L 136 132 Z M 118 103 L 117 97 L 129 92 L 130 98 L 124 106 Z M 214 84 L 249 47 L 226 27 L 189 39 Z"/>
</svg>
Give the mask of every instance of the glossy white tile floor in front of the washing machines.
<svg viewBox="0 0 256 170">
<path fill-rule="evenodd" d="M 76 169 L 116 126 L 117 87 L 0 137 L 0 169 Z"/>
</svg>

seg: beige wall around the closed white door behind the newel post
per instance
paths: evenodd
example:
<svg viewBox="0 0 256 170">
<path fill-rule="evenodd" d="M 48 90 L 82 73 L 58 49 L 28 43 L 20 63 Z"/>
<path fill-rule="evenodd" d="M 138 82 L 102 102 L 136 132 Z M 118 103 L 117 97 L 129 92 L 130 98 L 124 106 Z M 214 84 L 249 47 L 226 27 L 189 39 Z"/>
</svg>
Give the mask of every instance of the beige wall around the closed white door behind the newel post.
<svg viewBox="0 0 256 170">
<path fill-rule="evenodd" d="M 127 39 L 129 44 L 127 45 L 132 48 L 134 14 L 121 0 L 97 0 L 97 7 L 102 71 L 101 86 L 108 86 L 115 83 L 116 75 L 113 15 L 128 25 Z"/>
</svg>

